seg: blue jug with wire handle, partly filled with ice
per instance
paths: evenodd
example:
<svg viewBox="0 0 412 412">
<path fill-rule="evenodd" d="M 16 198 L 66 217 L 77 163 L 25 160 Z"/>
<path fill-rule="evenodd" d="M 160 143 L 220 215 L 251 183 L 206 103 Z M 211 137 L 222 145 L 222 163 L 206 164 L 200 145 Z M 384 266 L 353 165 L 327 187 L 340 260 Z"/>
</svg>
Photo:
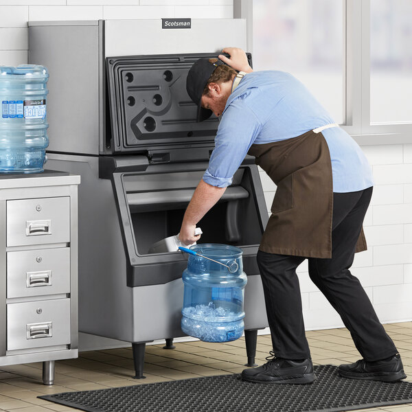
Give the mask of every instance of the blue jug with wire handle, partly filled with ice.
<svg viewBox="0 0 412 412">
<path fill-rule="evenodd" d="M 190 248 L 183 271 L 185 292 L 181 328 L 205 342 L 229 342 L 244 330 L 242 249 L 226 244 L 197 244 Z"/>
</svg>

